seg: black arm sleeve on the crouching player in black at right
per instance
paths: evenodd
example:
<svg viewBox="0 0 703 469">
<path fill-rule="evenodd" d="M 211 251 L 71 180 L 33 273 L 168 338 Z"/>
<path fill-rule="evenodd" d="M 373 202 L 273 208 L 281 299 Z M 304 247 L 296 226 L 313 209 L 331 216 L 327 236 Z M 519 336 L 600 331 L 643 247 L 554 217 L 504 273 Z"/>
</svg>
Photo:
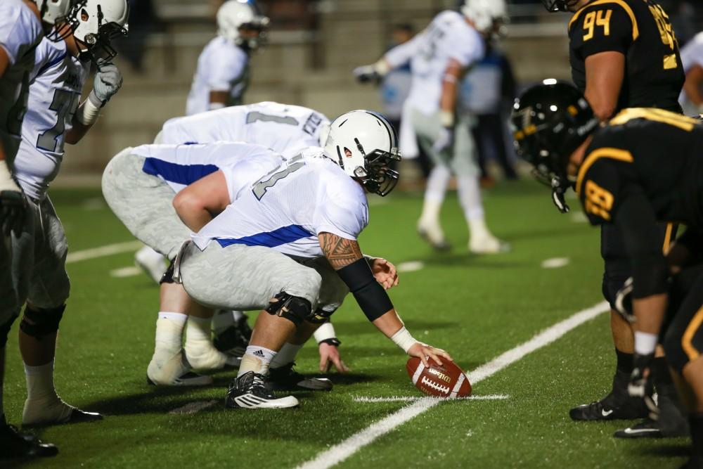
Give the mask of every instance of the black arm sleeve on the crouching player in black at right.
<svg viewBox="0 0 703 469">
<path fill-rule="evenodd" d="M 669 268 L 662 252 L 661 230 L 654 209 L 640 187 L 623 188 L 614 217 L 632 264 L 633 297 L 666 293 Z"/>
</svg>

